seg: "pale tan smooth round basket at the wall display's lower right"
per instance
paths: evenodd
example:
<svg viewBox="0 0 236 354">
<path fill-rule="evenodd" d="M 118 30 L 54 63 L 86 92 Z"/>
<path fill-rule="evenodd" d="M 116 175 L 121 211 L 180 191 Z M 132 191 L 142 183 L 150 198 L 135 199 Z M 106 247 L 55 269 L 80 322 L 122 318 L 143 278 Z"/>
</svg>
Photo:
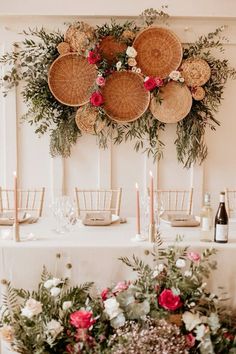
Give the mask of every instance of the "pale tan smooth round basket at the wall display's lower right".
<svg viewBox="0 0 236 354">
<path fill-rule="evenodd" d="M 153 116 L 163 123 L 177 123 L 187 116 L 192 106 L 192 95 L 186 85 L 170 81 L 161 89 L 161 102 L 151 99 L 150 110 Z"/>
</svg>

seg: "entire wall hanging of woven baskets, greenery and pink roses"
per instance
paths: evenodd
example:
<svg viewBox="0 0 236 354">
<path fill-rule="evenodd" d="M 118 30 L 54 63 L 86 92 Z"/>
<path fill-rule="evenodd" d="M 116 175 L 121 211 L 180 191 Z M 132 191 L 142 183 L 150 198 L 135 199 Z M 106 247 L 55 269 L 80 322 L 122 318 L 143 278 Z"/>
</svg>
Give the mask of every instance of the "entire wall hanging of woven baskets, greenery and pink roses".
<svg viewBox="0 0 236 354">
<path fill-rule="evenodd" d="M 77 138 L 92 133 L 100 147 L 132 140 L 135 150 L 160 158 L 160 132 L 176 123 L 178 161 L 189 167 L 206 158 L 205 130 L 220 125 L 215 113 L 227 79 L 236 77 L 228 60 L 213 55 L 224 51 L 224 28 L 182 46 L 163 10 L 145 10 L 143 25 L 78 21 L 65 33 L 29 29 L 0 58 L 4 93 L 24 82 L 23 118 L 37 134 L 50 132 L 52 156 L 70 156 Z"/>
</svg>

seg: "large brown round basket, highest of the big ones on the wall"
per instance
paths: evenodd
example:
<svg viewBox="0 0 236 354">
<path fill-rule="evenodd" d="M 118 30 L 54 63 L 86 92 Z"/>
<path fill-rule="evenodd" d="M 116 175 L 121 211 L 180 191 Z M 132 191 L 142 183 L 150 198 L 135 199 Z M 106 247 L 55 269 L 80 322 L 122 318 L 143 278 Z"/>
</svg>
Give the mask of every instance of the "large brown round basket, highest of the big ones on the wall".
<svg viewBox="0 0 236 354">
<path fill-rule="evenodd" d="M 147 76 L 162 79 L 176 70 L 183 56 L 182 45 L 174 32 L 161 27 L 142 30 L 134 40 L 137 66 Z"/>
</svg>

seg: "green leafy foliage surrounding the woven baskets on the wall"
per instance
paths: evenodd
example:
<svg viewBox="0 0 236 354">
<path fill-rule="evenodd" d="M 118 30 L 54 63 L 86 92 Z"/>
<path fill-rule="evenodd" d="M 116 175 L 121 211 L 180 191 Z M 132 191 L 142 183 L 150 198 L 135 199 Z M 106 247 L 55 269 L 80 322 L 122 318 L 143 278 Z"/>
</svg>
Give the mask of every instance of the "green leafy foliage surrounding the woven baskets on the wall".
<svg viewBox="0 0 236 354">
<path fill-rule="evenodd" d="M 141 14 L 146 26 L 153 23 L 163 23 L 168 19 L 168 14 L 162 10 L 147 9 Z M 77 28 L 84 26 L 83 22 L 73 24 Z M 123 41 L 131 46 L 140 30 L 134 21 L 126 21 L 117 24 L 111 20 L 111 24 L 105 23 L 94 29 L 95 41 L 88 43 L 83 55 L 88 55 L 96 50 L 101 40 L 106 36 L 113 36 L 116 40 Z M 223 90 L 228 78 L 236 78 L 236 71 L 229 66 L 228 60 L 216 59 L 211 51 L 219 49 L 223 52 L 223 43 L 220 37 L 223 28 L 206 36 L 201 36 L 195 43 L 188 44 L 184 48 L 183 59 L 202 58 L 211 68 L 210 80 L 204 85 L 206 96 L 201 101 L 193 100 L 189 114 L 177 123 L 177 138 L 175 140 L 177 158 L 185 167 L 189 168 L 193 163 L 201 163 L 207 156 L 207 146 L 204 142 L 204 134 L 207 127 L 215 130 L 220 123 L 215 119 L 215 113 L 223 98 Z M 122 34 L 128 33 L 126 37 Z M 58 102 L 48 87 L 48 70 L 53 61 L 58 57 L 57 46 L 64 40 L 61 32 L 47 32 L 44 28 L 29 29 L 23 34 L 26 39 L 21 45 L 14 44 L 12 53 L 6 53 L 0 58 L 0 62 L 9 65 L 10 69 L 2 77 L 1 83 L 4 95 L 19 82 L 23 81 L 22 96 L 28 106 L 23 119 L 35 126 L 35 133 L 43 135 L 50 133 L 50 153 L 52 156 L 69 157 L 71 147 L 82 136 L 82 131 L 75 122 L 75 107 L 69 107 Z M 129 35 L 131 34 L 131 36 Z M 117 57 L 119 70 L 130 70 L 126 53 Z M 98 74 L 108 77 L 111 72 L 117 70 L 116 63 L 108 63 L 104 58 L 96 63 Z M 137 69 L 136 69 L 137 70 Z M 165 79 L 163 85 L 170 81 Z M 159 100 L 161 86 L 152 90 L 152 95 Z M 97 85 L 92 91 L 98 90 Z M 92 92 L 91 92 L 92 93 Z M 91 105 L 91 102 L 88 103 Z M 160 132 L 164 131 L 165 124 L 153 117 L 148 109 L 138 120 L 120 124 L 109 119 L 102 105 L 95 107 L 97 110 L 97 122 L 103 122 L 105 127 L 95 134 L 100 147 L 107 147 L 108 141 L 115 144 L 123 141 L 134 141 L 136 151 L 143 150 L 154 160 L 163 156 L 164 144 L 160 140 Z"/>
</svg>

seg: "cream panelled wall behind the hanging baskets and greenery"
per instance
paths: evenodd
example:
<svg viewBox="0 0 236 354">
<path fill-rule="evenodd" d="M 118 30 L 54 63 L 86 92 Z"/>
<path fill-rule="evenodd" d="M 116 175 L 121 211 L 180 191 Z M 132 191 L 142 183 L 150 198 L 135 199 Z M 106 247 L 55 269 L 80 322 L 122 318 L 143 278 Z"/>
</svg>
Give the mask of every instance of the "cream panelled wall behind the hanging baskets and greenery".
<svg viewBox="0 0 236 354">
<path fill-rule="evenodd" d="M 11 48 L 13 41 L 21 39 L 22 29 L 45 26 L 50 29 L 65 28 L 63 23 L 81 15 L 84 20 L 96 25 L 109 20 L 105 15 L 137 15 L 144 9 L 143 1 L 99 1 L 71 4 L 64 1 L 21 2 L 0 0 L 0 50 Z M 55 5 L 56 3 L 56 5 Z M 20 6 L 21 4 L 21 6 Z M 214 6 L 213 6 L 214 4 Z M 227 6 L 226 6 L 227 4 Z M 54 6 L 55 5 L 55 6 Z M 157 1 L 146 1 L 146 7 L 157 7 Z M 176 0 L 169 6 L 173 29 L 182 42 L 194 41 L 200 34 L 208 33 L 223 24 L 227 25 L 225 34 L 229 37 L 226 45 L 226 57 L 236 66 L 236 2 L 221 1 L 184 1 Z M 14 14 L 14 16 L 12 15 Z M 15 16 L 19 15 L 20 16 Z M 28 16 L 34 14 L 35 16 Z M 64 16 L 56 16 L 64 14 Z M 72 15 L 68 16 L 68 15 Z M 75 16 L 75 15 L 78 16 Z M 41 16 L 36 16 L 41 15 Z M 49 16 L 50 15 L 50 16 Z M 53 16 L 52 16 L 53 15 Z M 104 15 L 104 16 L 102 16 Z M 181 17 L 180 17 L 181 16 Z M 193 17 L 195 16 L 195 17 Z M 207 17 L 212 16 L 212 17 Z M 230 18 L 227 18 L 230 17 Z M 118 18 L 119 20 L 119 18 Z M 123 18 L 121 19 L 123 20 Z M 18 169 L 22 187 L 45 186 L 46 202 L 54 195 L 66 191 L 73 195 L 75 185 L 81 187 L 118 187 L 123 188 L 122 214 L 134 213 L 134 184 L 137 181 L 145 189 L 148 172 L 153 170 L 156 186 L 159 188 L 195 189 L 194 209 L 199 212 L 202 193 L 212 193 L 213 204 L 218 203 L 218 194 L 225 186 L 235 187 L 235 99 L 236 81 L 229 81 L 225 90 L 225 100 L 217 115 L 221 127 L 216 132 L 207 132 L 206 142 L 209 156 L 202 166 L 190 170 L 183 169 L 177 163 L 174 147 L 175 125 L 169 125 L 163 134 L 166 143 L 164 159 L 153 165 L 144 154 L 134 152 L 132 143 L 110 146 L 108 150 L 99 150 L 93 136 L 83 136 L 72 149 L 71 158 L 63 161 L 51 159 L 48 152 L 49 139 L 38 139 L 33 128 L 20 123 L 20 117 L 26 107 L 22 102 L 20 90 L 13 90 L 3 99 L 0 98 L 0 185 L 12 184 L 12 171 Z M 17 166 L 18 164 L 18 166 Z"/>
</svg>

